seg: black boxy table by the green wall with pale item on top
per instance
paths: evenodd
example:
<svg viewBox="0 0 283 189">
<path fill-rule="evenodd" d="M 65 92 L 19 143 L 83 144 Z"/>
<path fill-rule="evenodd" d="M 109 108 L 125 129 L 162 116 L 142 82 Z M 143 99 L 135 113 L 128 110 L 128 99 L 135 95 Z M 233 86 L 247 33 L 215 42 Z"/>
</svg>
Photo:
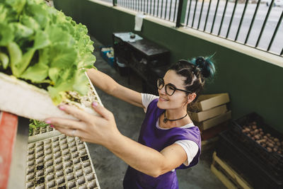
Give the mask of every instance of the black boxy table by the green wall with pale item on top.
<svg viewBox="0 0 283 189">
<path fill-rule="evenodd" d="M 152 67 L 161 67 L 169 64 L 170 51 L 155 42 L 146 40 L 135 35 L 136 37 L 129 40 L 133 33 L 113 33 L 112 41 L 114 55 L 127 67 L 129 71 L 138 74 L 141 79 L 149 83 L 149 69 Z M 117 64 L 117 63 L 116 63 Z"/>
</svg>

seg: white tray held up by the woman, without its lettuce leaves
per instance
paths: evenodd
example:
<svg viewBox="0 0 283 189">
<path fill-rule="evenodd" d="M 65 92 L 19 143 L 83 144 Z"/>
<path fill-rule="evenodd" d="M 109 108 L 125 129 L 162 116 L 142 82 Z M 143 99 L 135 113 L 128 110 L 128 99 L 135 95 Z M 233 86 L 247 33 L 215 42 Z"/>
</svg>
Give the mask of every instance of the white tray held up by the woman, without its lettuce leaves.
<svg viewBox="0 0 283 189">
<path fill-rule="evenodd" d="M 85 110 L 88 113 L 98 115 L 92 108 L 91 103 L 100 99 L 96 96 L 91 81 L 89 80 L 89 88 L 87 96 L 81 96 L 80 102 L 63 101 L 63 103 L 70 103 L 76 105 L 78 108 Z M 73 92 L 71 91 L 71 94 Z M 69 93 L 70 95 L 70 93 Z M 76 94 L 75 94 L 76 95 Z M 8 76 L 0 72 L 0 110 L 20 115 L 24 118 L 34 120 L 45 120 L 50 117 L 73 118 L 63 111 L 59 110 L 52 102 L 50 95 L 42 88 L 37 88 L 31 84 L 16 79 L 14 76 Z"/>
</svg>

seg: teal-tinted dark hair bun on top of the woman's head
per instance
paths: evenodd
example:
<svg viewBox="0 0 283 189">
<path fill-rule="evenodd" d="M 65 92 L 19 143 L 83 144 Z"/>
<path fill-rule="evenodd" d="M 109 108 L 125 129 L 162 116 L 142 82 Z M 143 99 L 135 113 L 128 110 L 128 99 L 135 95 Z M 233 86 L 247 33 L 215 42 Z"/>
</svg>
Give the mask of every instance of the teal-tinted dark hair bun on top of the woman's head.
<svg viewBox="0 0 283 189">
<path fill-rule="evenodd" d="M 215 67 L 211 57 L 197 57 L 192 59 L 192 63 L 195 64 L 196 69 L 200 70 L 200 73 L 205 78 L 212 77 L 215 74 Z"/>
</svg>

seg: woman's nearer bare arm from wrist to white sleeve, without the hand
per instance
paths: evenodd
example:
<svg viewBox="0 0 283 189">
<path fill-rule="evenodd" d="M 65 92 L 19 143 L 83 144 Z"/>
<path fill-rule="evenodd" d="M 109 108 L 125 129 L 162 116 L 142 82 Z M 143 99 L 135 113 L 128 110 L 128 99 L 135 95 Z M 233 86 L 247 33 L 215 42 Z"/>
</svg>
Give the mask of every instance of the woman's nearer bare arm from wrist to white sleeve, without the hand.
<svg viewBox="0 0 283 189">
<path fill-rule="evenodd" d="M 107 148 L 132 168 L 153 177 L 177 168 L 187 159 L 184 149 L 178 144 L 172 144 L 159 152 L 123 135 Z"/>
</svg>

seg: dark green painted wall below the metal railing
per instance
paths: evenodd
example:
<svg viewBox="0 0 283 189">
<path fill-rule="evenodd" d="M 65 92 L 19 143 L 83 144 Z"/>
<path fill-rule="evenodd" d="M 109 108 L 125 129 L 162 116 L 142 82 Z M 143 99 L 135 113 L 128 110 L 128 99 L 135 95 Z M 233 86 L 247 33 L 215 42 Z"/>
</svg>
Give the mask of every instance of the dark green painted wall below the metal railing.
<svg viewBox="0 0 283 189">
<path fill-rule="evenodd" d="M 88 0 L 55 0 L 54 5 L 86 24 L 104 45 L 112 44 L 113 32 L 134 32 L 134 16 L 112 7 Z M 137 34 L 171 50 L 171 62 L 216 52 L 217 74 L 204 93 L 229 93 L 233 119 L 255 111 L 283 133 L 282 67 L 146 20 Z"/>
</svg>

